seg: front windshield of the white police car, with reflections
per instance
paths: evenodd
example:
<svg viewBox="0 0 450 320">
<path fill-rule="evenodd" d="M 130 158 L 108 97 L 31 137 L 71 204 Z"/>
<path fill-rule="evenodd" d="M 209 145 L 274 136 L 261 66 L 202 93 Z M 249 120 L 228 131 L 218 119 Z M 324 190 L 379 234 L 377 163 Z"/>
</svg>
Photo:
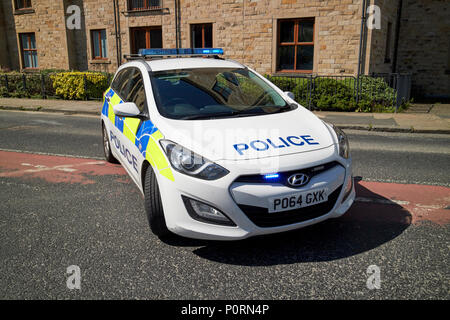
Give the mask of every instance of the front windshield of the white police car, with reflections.
<svg viewBox="0 0 450 320">
<path fill-rule="evenodd" d="M 253 72 L 239 68 L 198 68 L 151 74 L 159 112 L 195 120 L 289 111 L 286 101 Z"/>
</svg>

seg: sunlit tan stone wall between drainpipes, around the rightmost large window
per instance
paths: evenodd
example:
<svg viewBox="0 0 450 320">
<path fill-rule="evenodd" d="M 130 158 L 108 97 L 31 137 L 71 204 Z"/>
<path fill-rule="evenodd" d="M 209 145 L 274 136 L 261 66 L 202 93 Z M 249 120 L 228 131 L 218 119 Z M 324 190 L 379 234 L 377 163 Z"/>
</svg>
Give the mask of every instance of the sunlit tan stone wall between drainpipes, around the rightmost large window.
<svg viewBox="0 0 450 320">
<path fill-rule="evenodd" d="M 314 18 L 313 72 L 356 72 L 361 0 L 182 0 L 181 4 L 183 46 L 190 46 L 190 24 L 210 22 L 213 44 L 223 47 L 227 57 L 261 73 L 274 73 L 278 20 Z"/>
</svg>

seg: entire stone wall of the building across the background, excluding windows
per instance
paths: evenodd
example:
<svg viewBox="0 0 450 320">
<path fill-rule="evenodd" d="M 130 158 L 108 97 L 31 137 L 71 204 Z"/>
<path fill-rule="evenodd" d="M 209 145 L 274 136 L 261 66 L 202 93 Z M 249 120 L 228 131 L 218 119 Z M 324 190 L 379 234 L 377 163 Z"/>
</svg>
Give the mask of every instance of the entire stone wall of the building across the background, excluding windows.
<svg viewBox="0 0 450 320">
<path fill-rule="evenodd" d="M 381 29 L 368 30 L 363 70 L 391 72 L 399 0 L 370 0 L 381 8 Z M 213 25 L 213 46 L 225 57 L 249 65 L 260 73 L 277 73 L 278 22 L 314 18 L 313 73 L 356 75 L 362 0 L 180 0 L 182 47 L 190 47 L 190 27 Z M 33 8 L 19 14 L 13 0 L 2 0 L 0 14 L 0 66 L 22 68 L 18 34 L 35 32 L 40 69 L 76 69 L 114 72 L 124 62 L 117 57 L 131 51 L 134 27 L 162 28 L 164 48 L 175 47 L 175 5 L 162 0 L 160 11 L 130 13 L 127 0 L 118 0 L 120 46 L 116 45 L 111 0 L 32 0 Z M 81 29 L 69 30 L 67 7 L 81 9 Z M 403 0 L 397 71 L 413 74 L 415 93 L 449 94 L 450 32 L 448 1 Z M 390 60 L 385 59 L 387 26 L 392 24 Z M 107 59 L 92 57 L 91 31 L 106 29 Z M 4 36 L 2 36 L 4 35 Z M 4 54 L 7 52 L 7 54 Z"/>
</svg>

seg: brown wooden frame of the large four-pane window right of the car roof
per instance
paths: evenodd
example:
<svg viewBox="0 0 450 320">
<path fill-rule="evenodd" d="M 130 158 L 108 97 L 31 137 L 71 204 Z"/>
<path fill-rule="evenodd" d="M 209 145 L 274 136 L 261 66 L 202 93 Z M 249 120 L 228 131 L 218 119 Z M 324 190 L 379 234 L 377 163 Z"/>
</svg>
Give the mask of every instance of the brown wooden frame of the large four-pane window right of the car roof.
<svg viewBox="0 0 450 320">
<path fill-rule="evenodd" d="M 281 42 L 281 23 L 293 21 L 294 24 L 294 41 L 293 42 Z M 312 42 L 299 42 L 298 41 L 298 30 L 301 22 L 312 22 L 313 23 L 313 36 Z M 315 51 L 315 37 L 316 37 L 316 19 L 311 18 L 291 18 L 291 19 L 278 19 L 277 21 L 277 51 L 276 51 L 276 65 L 275 69 L 277 72 L 282 73 L 313 73 L 314 72 L 314 51 Z M 280 47 L 294 47 L 294 69 L 279 69 L 279 49 Z M 298 46 L 313 46 L 313 68 L 311 70 L 297 70 L 297 47 Z"/>
</svg>

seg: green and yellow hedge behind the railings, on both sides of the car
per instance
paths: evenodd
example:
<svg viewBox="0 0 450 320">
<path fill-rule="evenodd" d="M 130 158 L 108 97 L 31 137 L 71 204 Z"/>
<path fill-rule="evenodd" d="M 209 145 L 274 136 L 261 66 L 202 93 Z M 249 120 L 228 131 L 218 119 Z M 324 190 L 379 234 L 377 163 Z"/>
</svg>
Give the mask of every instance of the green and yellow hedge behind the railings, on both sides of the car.
<svg viewBox="0 0 450 320">
<path fill-rule="evenodd" d="M 5 75 L 8 77 L 8 87 L 6 87 Z M 101 99 L 111 78 L 111 74 L 102 72 L 55 69 L 42 70 L 38 73 L 0 73 L 0 96 L 14 98 L 45 96 L 70 100 Z M 358 103 L 356 103 L 356 79 L 352 77 L 290 78 L 266 75 L 266 78 L 281 90 L 293 92 L 295 100 L 305 107 L 311 106 L 313 109 L 327 111 L 395 111 L 396 91 L 389 87 L 383 78 L 360 77 Z M 401 108 L 406 104 L 403 104 Z"/>
</svg>

